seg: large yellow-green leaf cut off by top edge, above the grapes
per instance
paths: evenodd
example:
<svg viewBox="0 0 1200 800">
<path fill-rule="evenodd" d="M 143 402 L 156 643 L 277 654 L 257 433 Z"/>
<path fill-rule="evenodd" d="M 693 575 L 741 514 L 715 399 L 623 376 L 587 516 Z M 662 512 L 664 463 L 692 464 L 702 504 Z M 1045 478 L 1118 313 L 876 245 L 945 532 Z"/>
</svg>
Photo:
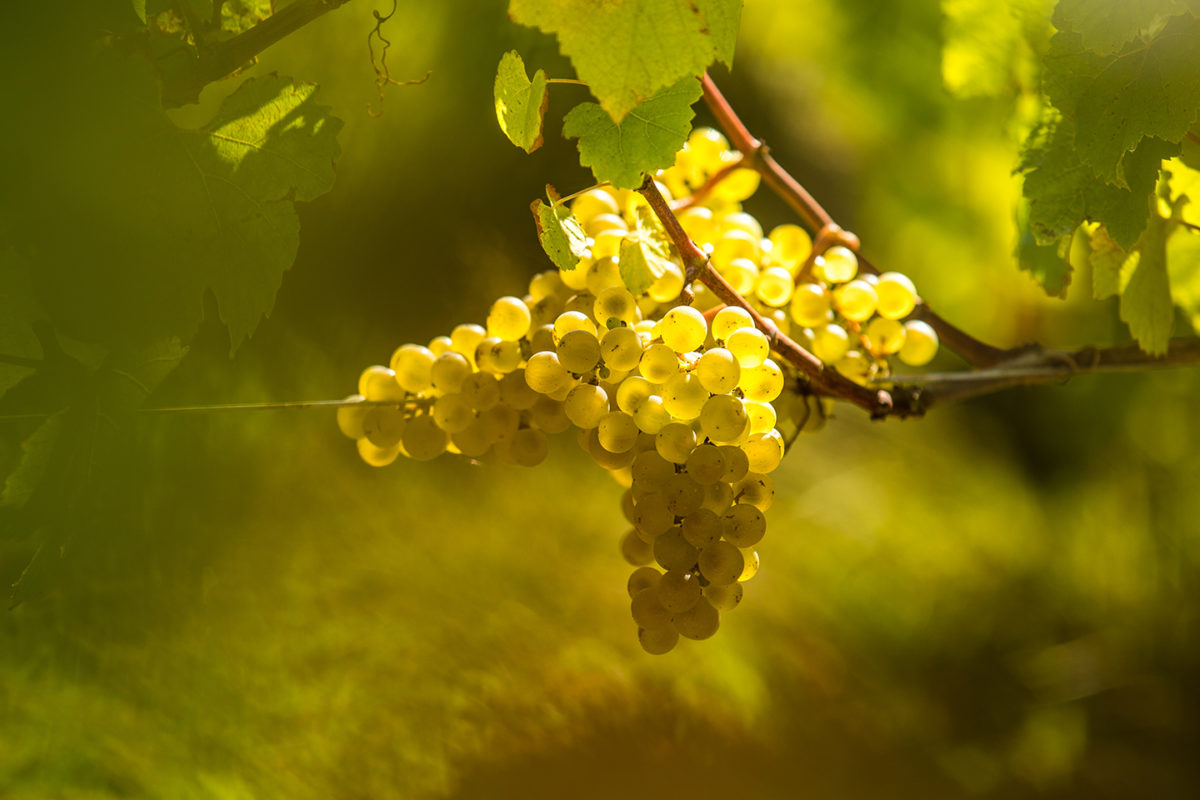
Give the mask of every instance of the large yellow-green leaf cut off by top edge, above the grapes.
<svg viewBox="0 0 1200 800">
<path fill-rule="evenodd" d="M 600 107 L 620 122 L 635 106 L 714 55 L 732 60 L 742 0 L 511 0 L 509 16 L 558 36 Z"/>
</svg>

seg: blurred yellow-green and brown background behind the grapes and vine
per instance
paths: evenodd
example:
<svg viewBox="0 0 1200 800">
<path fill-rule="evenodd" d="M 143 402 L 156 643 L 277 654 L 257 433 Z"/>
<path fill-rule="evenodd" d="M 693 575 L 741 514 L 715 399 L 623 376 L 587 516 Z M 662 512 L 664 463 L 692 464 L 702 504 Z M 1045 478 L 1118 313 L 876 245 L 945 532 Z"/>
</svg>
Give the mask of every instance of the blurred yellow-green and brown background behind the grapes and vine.
<svg viewBox="0 0 1200 800">
<path fill-rule="evenodd" d="M 516 48 L 568 77 L 553 40 L 499 0 L 402 0 L 391 74 L 432 74 L 380 106 L 390 5 L 251 70 L 320 84 L 337 182 L 300 205 L 270 318 L 230 357 L 210 306 L 151 404 L 344 396 L 548 266 L 528 204 L 592 182 L 559 136 L 584 90 L 552 88 L 526 156 L 494 68 Z M 1051 300 L 1012 258 L 1048 18 L 749 0 L 714 77 L 944 317 L 1000 345 L 1124 341 L 1086 273 Z M 745 601 L 661 657 L 629 619 L 620 488 L 571 435 L 534 470 L 373 469 L 332 413 L 145 417 L 136 524 L 77 531 L 64 579 L 0 615 L 0 798 L 1198 796 L 1198 392 L 1180 369 L 906 422 L 839 407 L 775 475 Z M 26 557 L 0 542 L 6 577 Z"/>
</svg>

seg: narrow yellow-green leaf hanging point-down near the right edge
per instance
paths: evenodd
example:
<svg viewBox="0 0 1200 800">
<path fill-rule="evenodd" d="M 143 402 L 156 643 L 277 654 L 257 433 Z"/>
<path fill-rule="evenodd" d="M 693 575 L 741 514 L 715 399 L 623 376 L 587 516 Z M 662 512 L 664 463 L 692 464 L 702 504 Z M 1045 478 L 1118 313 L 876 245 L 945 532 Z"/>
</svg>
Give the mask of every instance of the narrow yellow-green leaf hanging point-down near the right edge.
<svg viewBox="0 0 1200 800">
<path fill-rule="evenodd" d="M 1163 355 L 1171 338 L 1175 308 L 1166 273 L 1169 221 L 1156 216 L 1129 254 L 1129 281 L 1121 293 L 1121 320 L 1144 351 Z"/>
</svg>

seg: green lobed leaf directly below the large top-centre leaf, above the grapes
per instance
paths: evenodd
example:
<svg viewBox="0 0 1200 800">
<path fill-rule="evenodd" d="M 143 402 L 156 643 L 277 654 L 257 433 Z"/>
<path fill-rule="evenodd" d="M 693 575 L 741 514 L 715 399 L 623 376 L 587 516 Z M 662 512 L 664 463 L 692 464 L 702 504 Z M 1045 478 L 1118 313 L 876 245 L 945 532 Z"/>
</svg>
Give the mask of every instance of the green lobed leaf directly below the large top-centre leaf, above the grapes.
<svg viewBox="0 0 1200 800">
<path fill-rule="evenodd" d="M 637 188 L 644 173 L 674 163 L 691 131 L 691 106 L 700 95 L 700 82 L 684 78 L 640 104 L 619 125 L 595 103 L 580 103 L 563 120 L 563 136 L 580 140 L 580 163 L 592 168 L 598 182 Z"/>
</svg>

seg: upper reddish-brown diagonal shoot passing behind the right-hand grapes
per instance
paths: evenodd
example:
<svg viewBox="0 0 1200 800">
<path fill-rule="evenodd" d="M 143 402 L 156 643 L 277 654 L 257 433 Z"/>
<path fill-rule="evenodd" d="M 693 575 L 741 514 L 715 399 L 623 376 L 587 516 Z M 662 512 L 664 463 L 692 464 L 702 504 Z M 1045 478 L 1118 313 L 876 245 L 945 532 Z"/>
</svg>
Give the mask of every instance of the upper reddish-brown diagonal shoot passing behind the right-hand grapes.
<svg viewBox="0 0 1200 800">
<path fill-rule="evenodd" d="M 816 231 L 816 241 L 814 242 L 812 255 L 810 258 L 816 258 L 826 247 L 836 243 L 858 253 L 858 239 L 853 234 L 847 234 L 845 239 L 838 235 L 838 231 L 842 234 L 846 231 L 834 222 L 833 217 L 817 203 L 816 198 L 809 194 L 808 190 L 772 157 L 767 145 L 750 133 L 742 122 L 742 119 L 733 110 L 733 107 L 725 100 L 725 96 L 707 73 L 701 78 L 701 86 L 703 88 L 704 103 L 708 104 L 713 116 L 716 118 L 718 125 L 725 131 L 725 136 L 728 137 L 730 143 L 742 152 L 742 166 L 754 169 L 762 175 L 763 182 L 799 215 L 810 230 Z M 859 254 L 858 260 L 866 271 L 878 273 L 875 265 L 863 258 L 862 254 Z M 805 264 L 805 269 L 811 270 L 811 264 Z M 806 275 L 806 272 L 802 270 L 802 275 Z M 1006 350 L 980 342 L 966 331 L 938 317 L 919 297 L 913 317 L 929 323 L 937 331 L 938 338 L 946 347 L 958 353 L 967 363 L 974 367 L 990 367 L 1025 350 L 1025 348 Z"/>
</svg>

